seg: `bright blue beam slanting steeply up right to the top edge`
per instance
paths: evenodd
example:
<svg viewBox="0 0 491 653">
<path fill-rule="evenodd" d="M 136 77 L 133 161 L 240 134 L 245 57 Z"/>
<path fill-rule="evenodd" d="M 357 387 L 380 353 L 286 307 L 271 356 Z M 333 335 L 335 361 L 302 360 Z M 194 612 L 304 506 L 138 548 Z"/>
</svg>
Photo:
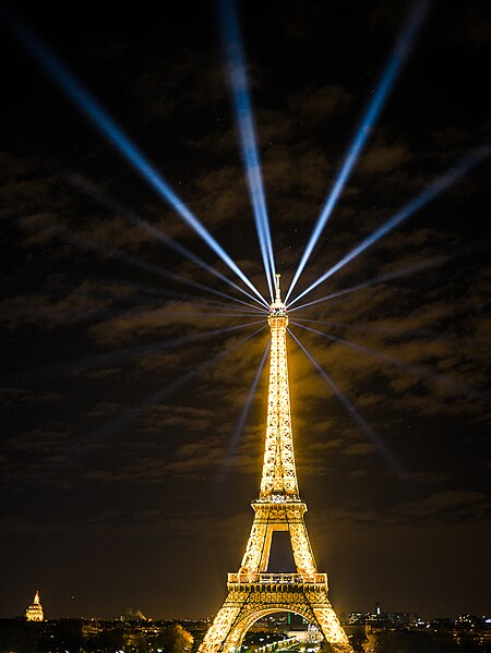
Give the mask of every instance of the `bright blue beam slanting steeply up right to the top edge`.
<svg viewBox="0 0 491 653">
<path fill-rule="evenodd" d="M 391 56 L 391 59 L 382 74 L 382 77 L 379 82 L 379 86 L 368 105 L 360 123 L 355 132 L 355 136 L 349 144 L 348 152 L 345 156 L 345 159 L 342 164 L 342 167 L 334 180 L 333 186 L 331 189 L 330 194 L 325 201 L 325 204 L 321 210 L 321 215 L 315 222 L 312 234 L 307 243 L 307 247 L 303 252 L 303 255 L 300 259 L 299 266 L 294 275 L 294 279 L 290 283 L 288 292 L 285 298 L 285 303 L 288 303 L 288 299 L 297 285 L 297 281 L 300 278 L 300 275 L 303 271 L 303 268 L 307 265 L 307 262 L 312 254 L 313 249 L 315 247 L 319 238 L 331 217 L 331 214 L 336 206 L 336 203 L 339 198 L 339 195 L 343 192 L 343 189 L 348 181 L 348 178 L 360 156 L 361 150 L 363 149 L 368 137 L 372 133 L 373 126 L 382 111 L 382 108 L 387 99 L 388 93 L 394 85 L 394 82 L 399 73 L 403 64 L 408 58 L 410 52 L 410 48 L 412 43 L 415 41 L 416 35 L 418 33 L 418 28 L 420 27 L 427 11 L 428 11 L 429 1 L 428 0 L 419 0 L 411 10 L 409 19 L 405 25 L 403 33 L 397 39 L 394 51 Z"/>
</svg>

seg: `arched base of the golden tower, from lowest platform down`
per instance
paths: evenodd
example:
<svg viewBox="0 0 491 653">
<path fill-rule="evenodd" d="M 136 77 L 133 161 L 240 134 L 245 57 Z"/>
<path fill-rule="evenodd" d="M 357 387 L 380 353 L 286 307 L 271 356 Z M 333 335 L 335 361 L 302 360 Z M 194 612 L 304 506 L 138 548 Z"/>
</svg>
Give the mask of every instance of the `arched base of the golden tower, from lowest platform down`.
<svg viewBox="0 0 491 653">
<path fill-rule="evenodd" d="M 333 653 L 352 653 L 348 638 L 327 597 L 325 573 L 228 575 L 228 595 L 209 627 L 199 653 L 235 653 L 258 619 L 292 612 L 314 624 Z"/>
</svg>

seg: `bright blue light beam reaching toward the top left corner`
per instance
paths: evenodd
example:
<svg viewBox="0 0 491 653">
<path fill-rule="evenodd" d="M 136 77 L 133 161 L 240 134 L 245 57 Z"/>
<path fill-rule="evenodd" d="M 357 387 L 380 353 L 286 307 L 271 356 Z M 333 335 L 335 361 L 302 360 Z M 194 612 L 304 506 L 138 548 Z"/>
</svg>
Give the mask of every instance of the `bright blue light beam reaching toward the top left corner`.
<svg viewBox="0 0 491 653">
<path fill-rule="evenodd" d="M 116 123 L 103 106 L 84 88 L 84 86 L 69 72 L 41 41 L 23 25 L 17 19 L 10 16 L 12 27 L 15 29 L 22 44 L 35 57 L 46 72 L 57 82 L 60 88 L 74 101 L 75 106 L 98 129 L 105 138 L 124 156 L 132 168 L 169 204 L 180 218 L 221 258 L 221 261 L 249 287 L 250 290 L 268 309 L 266 300 L 244 275 L 221 245 L 206 230 L 204 225 L 188 208 L 176 194 L 169 183 L 157 172 L 149 160 L 139 147 L 130 140 L 123 130 Z"/>
</svg>

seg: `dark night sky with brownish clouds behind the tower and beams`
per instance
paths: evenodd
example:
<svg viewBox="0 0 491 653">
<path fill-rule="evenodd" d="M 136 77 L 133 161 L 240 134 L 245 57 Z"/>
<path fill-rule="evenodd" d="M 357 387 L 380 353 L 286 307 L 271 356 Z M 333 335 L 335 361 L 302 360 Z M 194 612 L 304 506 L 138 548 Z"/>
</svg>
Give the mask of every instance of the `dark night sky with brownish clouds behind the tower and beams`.
<svg viewBox="0 0 491 653">
<path fill-rule="evenodd" d="M 22 614 L 39 589 L 48 618 L 205 616 L 252 522 L 267 365 L 233 431 L 267 329 L 241 342 L 261 314 L 172 277 L 249 301 L 129 219 L 240 283 L 41 69 L 14 21 L 266 295 L 217 7 L 37 4 L 4 13 L 0 39 L 0 615 Z M 285 288 L 410 7 L 239 5 Z M 430 4 L 296 292 L 489 142 L 490 13 L 486 0 Z M 411 274 L 296 313 L 331 336 L 292 326 L 372 430 L 290 339 L 300 493 L 338 612 L 379 601 L 424 617 L 491 613 L 490 170 L 488 158 L 306 301 Z"/>
</svg>

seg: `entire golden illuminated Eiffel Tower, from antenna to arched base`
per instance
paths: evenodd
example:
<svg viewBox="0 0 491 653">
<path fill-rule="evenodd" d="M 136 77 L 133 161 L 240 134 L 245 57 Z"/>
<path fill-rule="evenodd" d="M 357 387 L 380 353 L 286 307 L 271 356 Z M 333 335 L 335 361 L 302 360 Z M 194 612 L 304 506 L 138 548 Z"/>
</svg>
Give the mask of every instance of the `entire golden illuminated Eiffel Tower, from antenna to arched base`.
<svg viewBox="0 0 491 653">
<path fill-rule="evenodd" d="M 327 597 L 327 575 L 319 573 L 303 515 L 295 467 L 286 330 L 279 275 L 267 322 L 271 327 L 270 387 L 263 475 L 255 517 L 237 573 L 228 575 L 228 595 L 200 645 L 199 653 L 239 651 L 249 628 L 272 613 L 292 612 L 315 625 L 333 653 L 352 653 L 348 638 Z M 275 531 L 287 531 L 296 573 L 268 573 Z"/>
</svg>

